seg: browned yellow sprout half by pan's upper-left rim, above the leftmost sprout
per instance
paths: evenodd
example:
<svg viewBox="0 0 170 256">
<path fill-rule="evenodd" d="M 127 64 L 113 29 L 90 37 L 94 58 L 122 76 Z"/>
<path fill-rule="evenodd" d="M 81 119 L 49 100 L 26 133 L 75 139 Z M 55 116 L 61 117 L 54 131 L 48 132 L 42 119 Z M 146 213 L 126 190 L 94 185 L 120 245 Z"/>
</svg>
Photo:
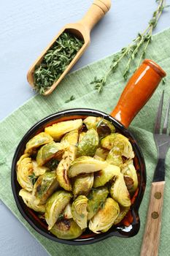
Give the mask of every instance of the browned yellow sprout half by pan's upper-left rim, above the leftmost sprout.
<svg viewBox="0 0 170 256">
<path fill-rule="evenodd" d="M 38 135 L 35 135 L 31 140 L 26 143 L 26 153 L 30 153 L 33 151 L 34 148 L 39 148 L 39 146 L 45 145 L 53 141 L 53 138 L 48 135 L 46 132 L 40 132 Z"/>
</svg>

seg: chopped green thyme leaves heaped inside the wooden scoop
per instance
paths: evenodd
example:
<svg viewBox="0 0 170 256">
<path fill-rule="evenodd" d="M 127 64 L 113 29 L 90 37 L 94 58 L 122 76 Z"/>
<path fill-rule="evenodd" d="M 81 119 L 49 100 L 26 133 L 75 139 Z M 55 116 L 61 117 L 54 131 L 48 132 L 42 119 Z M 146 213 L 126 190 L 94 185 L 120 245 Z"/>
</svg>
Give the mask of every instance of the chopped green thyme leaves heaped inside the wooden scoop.
<svg viewBox="0 0 170 256">
<path fill-rule="evenodd" d="M 40 65 L 34 71 L 34 89 L 44 94 L 50 86 L 60 78 L 77 52 L 82 48 L 83 41 L 68 32 L 63 32 L 47 50 Z"/>
</svg>

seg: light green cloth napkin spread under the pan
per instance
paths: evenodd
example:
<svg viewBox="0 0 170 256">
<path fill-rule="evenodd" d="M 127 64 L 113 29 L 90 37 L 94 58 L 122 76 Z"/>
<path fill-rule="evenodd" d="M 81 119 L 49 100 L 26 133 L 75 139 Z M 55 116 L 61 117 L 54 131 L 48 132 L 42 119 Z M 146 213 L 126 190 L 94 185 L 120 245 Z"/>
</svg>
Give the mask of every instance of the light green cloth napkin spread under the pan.
<svg viewBox="0 0 170 256">
<path fill-rule="evenodd" d="M 10 116 L 1 121 L 0 132 L 0 198 L 9 207 L 20 222 L 30 231 L 30 233 L 44 246 L 50 255 L 139 255 L 142 245 L 142 236 L 144 233 L 144 224 L 146 221 L 147 206 L 150 197 L 150 184 L 152 182 L 153 171 L 156 165 L 157 152 L 152 136 L 152 130 L 155 122 L 155 113 L 158 109 L 158 102 L 163 89 L 165 89 L 164 111 L 170 95 L 170 29 L 154 36 L 154 40 L 147 51 L 147 58 L 152 59 L 167 72 L 166 85 L 161 84 L 155 91 L 150 101 L 140 113 L 136 116 L 129 128 L 133 132 L 139 146 L 142 148 L 144 159 L 147 165 L 147 187 L 139 210 L 141 219 L 141 228 L 139 233 L 133 238 L 107 238 L 97 244 L 86 246 L 69 246 L 50 241 L 39 235 L 28 225 L 25 219 L 20 215 L 15 200 L 12 195 L 10 184 L 11 163 L 15 148 L 28 129 L 40 119 L 51 113 L 69 108 L 95 108 L 110 113 L 117 103 L 121 92 L 125 86 L 122 78 L 123 69 L 119 69 L 115 75 L 112 75 L 107 86 L 104 87 L 102 94 L 98 94 L 93 89 L 90 82 L 95 76 L 102 76 L 107 71 L 112 57 L 108 56 L 93 64 L 73 72 L 66 76 L 62 83 L 55 89 L 49 97 L 36 95 L 28 100 L 23 106 L 15 110 Z M 148 86 L 150 86 L 148 84 Z M 65 103 L 74 95 L 72 102 Z M 170 153 L 170 151 L 169 151 Z M 170 154 L 166 157 L 166 187 L 164 192 L 163 217 L 161 228 L 161 241 L 159 255 L 169 255 L 169 230 L 170 230 Z"/>
</svg>

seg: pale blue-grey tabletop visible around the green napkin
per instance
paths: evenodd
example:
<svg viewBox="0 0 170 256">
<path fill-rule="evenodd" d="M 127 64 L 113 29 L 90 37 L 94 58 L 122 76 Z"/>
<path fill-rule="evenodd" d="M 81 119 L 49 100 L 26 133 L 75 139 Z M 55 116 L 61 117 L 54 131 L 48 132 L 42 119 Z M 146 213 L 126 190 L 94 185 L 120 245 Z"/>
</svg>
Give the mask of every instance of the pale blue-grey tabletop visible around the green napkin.
<svg viewBox="0 0 170 256">
<path fill-rule="evenodd" d="M 34 95 L 26 80 L 28 67 L 63 25 L 82 18 L 92 1 L 0 1 L 0 120 Z M 145 28 L 155 7 L 155 0 L 112 1 L 112 9 L 93 29 L 91 45 L 74 69 L 128 45 Z M 169 26 L 170 10 L 167 10 L 155 33 Z M 1 256 L 47 255 L 3 203 L 0 203 L 0 230 Z"/>
</svg>

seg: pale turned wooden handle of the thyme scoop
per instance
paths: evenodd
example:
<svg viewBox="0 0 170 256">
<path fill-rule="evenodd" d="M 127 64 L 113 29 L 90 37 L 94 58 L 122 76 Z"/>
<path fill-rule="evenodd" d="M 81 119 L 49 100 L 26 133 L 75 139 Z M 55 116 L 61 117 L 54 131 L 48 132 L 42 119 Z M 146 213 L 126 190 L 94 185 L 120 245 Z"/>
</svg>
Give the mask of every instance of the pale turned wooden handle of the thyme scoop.
<svg viewBox="0 0 170 256">
<path fill-rule="evenodd" d="M 110 7 L 111 0 L 94 0 L 88 12 L 86 12 L 85 16 L 79 23 L 82 23 L 82 25 L 90 31 L 93 29 L 93 26 L 95 26 L 96 23 L 104 17 Z"/>
</svg>

